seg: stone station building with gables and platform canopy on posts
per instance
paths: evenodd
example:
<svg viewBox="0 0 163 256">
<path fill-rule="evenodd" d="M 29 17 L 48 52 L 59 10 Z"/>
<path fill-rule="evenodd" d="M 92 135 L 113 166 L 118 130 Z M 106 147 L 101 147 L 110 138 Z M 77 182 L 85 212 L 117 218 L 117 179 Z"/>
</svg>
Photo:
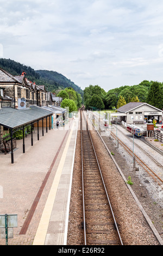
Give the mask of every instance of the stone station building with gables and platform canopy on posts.
<svg viewBox="0 0 163 256">
<path fill-rule="evenodd" d="M 39 127 L 44 127 L 46 132 L 54 128 L 54 117 L 60 110 L 64 117 L 65 110 L 59 105 L 60 97 L 54 97 L 47 92 L 45 86 L 37 86 L 26 78 L 26 73 L 20 76 L 12 76 L 9 72 L 0 68 L 0 153 L 11 151 L 11 163 L 14 163 L 14 149 L 16 142 L 14 132 L 23 131 L 23 153 L 25 153 L 24 134 L 30 133 L 33 145 L 33 129 L 37 129 L 39 140 Z M 55 109 L 57 106 L 58 109 Z M 49 108 L 50 107 L 50 108 Z M 27 127 L 30 126 L 30 131 Z M 5 136 L 5 138 L 4 138 Z M 6 143 L 7 142 L 7 143 Z"/>
</svg>

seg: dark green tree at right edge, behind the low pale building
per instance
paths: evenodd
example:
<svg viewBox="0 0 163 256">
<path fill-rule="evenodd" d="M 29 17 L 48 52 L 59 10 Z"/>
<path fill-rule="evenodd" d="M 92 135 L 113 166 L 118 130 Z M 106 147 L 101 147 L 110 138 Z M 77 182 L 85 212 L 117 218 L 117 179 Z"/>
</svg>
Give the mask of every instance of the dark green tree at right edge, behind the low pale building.
<svg viewBox="0 0 163 256">
<path fill-rule="evenodd" d="M 160 82 L 153 82 L 148 92 L 147 103 L 156 108 L 163 107 L 163 88 Z"/>
</svg>

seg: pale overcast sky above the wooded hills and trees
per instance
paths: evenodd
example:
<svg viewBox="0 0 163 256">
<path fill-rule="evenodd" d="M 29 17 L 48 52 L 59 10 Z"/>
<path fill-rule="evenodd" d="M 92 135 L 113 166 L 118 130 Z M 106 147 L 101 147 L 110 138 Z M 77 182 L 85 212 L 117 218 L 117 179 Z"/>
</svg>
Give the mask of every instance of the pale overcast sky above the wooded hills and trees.
<svg viewBox="0 0 163 256">
<path fill-rule="evenodd" d="M 0 0 L 0 57 L 82 89 L 163 82 L 163 2 Z"/>
</svg>

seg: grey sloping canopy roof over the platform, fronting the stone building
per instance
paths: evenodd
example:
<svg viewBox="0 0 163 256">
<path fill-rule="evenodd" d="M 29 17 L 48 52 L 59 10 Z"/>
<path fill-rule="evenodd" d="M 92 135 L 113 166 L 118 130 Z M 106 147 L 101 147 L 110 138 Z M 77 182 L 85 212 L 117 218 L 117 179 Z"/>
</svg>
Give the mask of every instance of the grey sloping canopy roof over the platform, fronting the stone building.
<svg viewBox="0 0 163 256">
<path fill-rule="evenodd" d="M 28 109 L 5 107 L 0 109 L 0 125 L 16 128 L 52 114 L 53 112 L 37 106 L 30 106 Z"/>
</svg>

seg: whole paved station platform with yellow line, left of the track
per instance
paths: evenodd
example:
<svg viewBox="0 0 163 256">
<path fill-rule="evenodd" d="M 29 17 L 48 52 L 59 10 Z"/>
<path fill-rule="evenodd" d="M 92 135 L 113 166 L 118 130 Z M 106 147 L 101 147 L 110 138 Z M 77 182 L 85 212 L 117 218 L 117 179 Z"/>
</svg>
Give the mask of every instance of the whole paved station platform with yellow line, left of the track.
<svg viewBox="0 0 163 256">
<path fill-rule="evenodd" d="M 66 245 L 78 121 L 44 136 L 40 129 L 39 141 L 35 131 L 33 147 L 25 139 L 25 154 L 17 141 L 14 164 L 0 154 L 0 215 L 17 214 L 18 222 L 8 245 Z"/>
</svg>

